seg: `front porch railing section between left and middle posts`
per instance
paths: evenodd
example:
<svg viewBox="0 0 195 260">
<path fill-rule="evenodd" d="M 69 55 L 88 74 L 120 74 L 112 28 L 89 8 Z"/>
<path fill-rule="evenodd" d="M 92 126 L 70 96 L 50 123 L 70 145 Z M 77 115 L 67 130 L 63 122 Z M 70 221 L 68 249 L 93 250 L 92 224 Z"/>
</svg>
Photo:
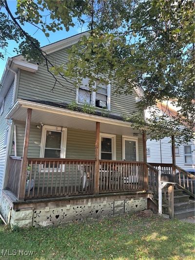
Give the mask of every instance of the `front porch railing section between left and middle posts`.
<svg viewBox="0 0 195 260">
<path fill-rule="evenodd" d="M 95 160 L 28 159 L 25 199 L 93 194 Z"/>
</svg>

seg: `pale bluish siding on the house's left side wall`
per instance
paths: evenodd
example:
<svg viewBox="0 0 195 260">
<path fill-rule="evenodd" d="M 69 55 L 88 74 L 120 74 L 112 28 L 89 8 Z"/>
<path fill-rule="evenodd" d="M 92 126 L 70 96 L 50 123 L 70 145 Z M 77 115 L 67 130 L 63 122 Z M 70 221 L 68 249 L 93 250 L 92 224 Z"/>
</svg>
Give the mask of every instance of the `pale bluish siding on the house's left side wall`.
<svg viewBox="0 0 195 260">
<path fill-rule="evenodd" d="M 5 116 L 7 115 L 8 111 L 12 107 L 13 102 L 13 91 L 14 91 L 14 84 L 11 85 L 4 102 L 4 110 L 2 115 L 0 116 L 0 194 L 1 194 L 1 188 L 3 185 L 3 176 L 4 176 L 4 168 L 5 168 L 5 161 L 6 161 L 6 153 L 7 153 L 7 147 L 8 147 L 8 141 L 9 141 L 9 133 L 10 133 L 10 127 L 7 124 L 7 121 L 5 119 Z M 9 123 L 11 123 L 12 120 L 9 120 Z M 4 139 L 5 139 L 5 132 L 9 129 L 8 132 L 8 141 L 7 145 L 4 146 Z"/>
</svg>

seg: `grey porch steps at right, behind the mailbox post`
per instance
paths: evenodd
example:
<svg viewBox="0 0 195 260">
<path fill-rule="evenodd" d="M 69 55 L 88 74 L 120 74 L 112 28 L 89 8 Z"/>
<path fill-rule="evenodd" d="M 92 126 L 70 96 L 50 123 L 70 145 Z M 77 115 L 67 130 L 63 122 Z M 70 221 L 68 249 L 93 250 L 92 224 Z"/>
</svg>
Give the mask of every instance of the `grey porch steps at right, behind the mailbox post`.
<svg viewBox="0 0 195 260">
<path fill-rule="evenodd" d="M 167 191 L 166 199 L 168 200 Z M 163 213 L 168 214 L 168 205 L 163 204 L 162 207 Z M 175 218 L 178 220 L 195 216 L 195 200 L 183 194 L 182 190 L 174 189 L 174 211 Z"/>
</svg>

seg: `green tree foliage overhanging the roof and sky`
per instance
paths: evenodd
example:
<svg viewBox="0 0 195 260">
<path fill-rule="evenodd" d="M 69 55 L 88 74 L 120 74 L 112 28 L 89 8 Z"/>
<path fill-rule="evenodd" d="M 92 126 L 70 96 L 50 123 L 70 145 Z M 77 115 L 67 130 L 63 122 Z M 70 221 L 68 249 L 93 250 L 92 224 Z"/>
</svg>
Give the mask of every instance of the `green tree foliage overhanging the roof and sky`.
<svg viewBox="0 0 195 260">
<path fill-rule="evenodd" d="M 18 52 L 27 60 L 41 58 L 55 80 L 58 74 L 66 80 L 77 78 L 77 84 L 83 77 L 90 78 L 92 85 L 97 78 L 109 79 L 116 95 L 131 94 L 134 87 L 141 86 L 145 94 L 140 109 L 157 100 L 177 100 L 178 115 L 170 120 L 153 113 L 153 119 L 147 121 L 149 129 L 153 138 L 173 133 L 178 140 L 193 138 L 193 0 L 18 0 L 16 14 L 6 0 L 0 0 L 0 6 L 0 47 L 6 47 L 9 39 L 20 40 Z M 38 40 L 25 31 L 25 24 L 31 23 L 49 37 L 50 31 L 68 31 L 75 20 L 87 24 L 89 35 L 72 47 L 66 69 L 64 64 L 54 66 Z M 127 120 L 133 120 L 137 128 L 145 124 L 142 114 L 129 115 Z"/>
</svg>

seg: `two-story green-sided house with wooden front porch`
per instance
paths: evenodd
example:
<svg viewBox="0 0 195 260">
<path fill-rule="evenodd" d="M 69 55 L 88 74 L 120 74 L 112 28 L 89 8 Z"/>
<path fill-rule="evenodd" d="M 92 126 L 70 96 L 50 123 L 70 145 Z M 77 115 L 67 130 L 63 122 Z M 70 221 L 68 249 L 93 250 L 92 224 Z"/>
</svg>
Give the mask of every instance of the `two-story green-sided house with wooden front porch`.
<svg viewBox="0 0 195 260">
<path fill-rule="evenodd" d="M 59 65 L 80 37 L 42 49 Z M 145 129 L 140 135 L 123 120 L 137 111 L 136 91 L 116 96 L 112 83 L 97 79 L 98 90 L 90 92 L 88 79 L 76 88 L 74 80 L 56 77 L 61 84 L 44 62 L 20 55 L 7 61 L 0 92 L 2 219 L 41 226 L 146 209 L 157 170 L 146 163 Z"/>
</svg>

